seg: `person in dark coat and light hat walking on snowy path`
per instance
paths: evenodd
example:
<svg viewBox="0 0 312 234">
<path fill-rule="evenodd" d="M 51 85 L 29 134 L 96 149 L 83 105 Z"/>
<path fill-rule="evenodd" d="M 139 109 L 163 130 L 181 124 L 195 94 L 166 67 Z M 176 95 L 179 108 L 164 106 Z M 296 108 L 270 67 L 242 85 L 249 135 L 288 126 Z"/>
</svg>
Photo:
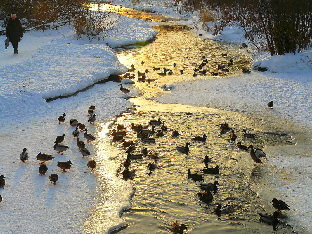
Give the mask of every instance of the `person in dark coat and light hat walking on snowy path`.
<svg viewBox="0 0 312 234">
<path fill-rule="evenodd" d="M 23 35 L 24 32 L 21 22 L 17 19 L 16 14 L 12 14 L 11 19 L 7 22 L 5 36 L 9 39 L 9 42 L 11 42 L 14 48 L 14 54 L 18 54 L 17 44 L 21 42 Z"/>
</svg>

